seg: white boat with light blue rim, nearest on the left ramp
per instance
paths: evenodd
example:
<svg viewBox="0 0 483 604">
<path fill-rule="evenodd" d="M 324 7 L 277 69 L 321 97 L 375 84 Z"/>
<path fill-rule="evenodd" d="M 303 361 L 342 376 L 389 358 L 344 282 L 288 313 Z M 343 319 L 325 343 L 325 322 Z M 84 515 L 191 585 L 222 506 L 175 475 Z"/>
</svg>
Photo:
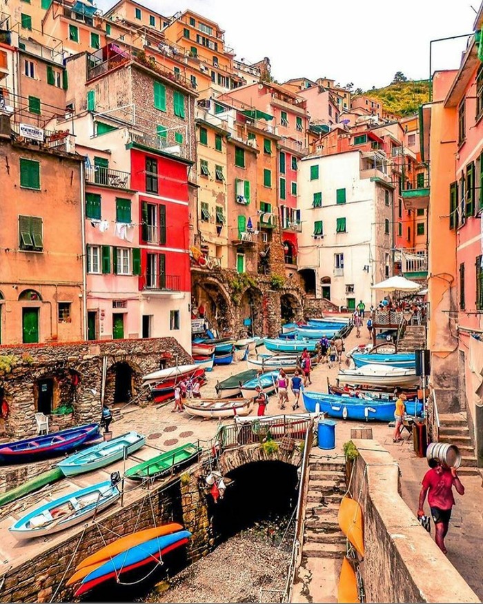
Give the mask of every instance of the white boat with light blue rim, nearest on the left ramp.
<svg viewBox="0 0 483 604">
<path fill-rule="evenodd" d="M 119 488 L 111 481 L 90 485 L 37 507 L 8 530 L 19 541 L 50 535 L 86 521 L 115 503 L 119 496 Z"/>
</svg>

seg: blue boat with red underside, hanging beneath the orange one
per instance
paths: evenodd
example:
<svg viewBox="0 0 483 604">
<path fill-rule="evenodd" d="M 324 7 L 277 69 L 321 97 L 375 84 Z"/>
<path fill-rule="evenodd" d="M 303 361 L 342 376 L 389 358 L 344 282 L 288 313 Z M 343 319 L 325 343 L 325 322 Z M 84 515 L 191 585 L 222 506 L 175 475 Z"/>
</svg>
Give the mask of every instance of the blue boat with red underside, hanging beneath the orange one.
<svg viewBox="0 0 483 604">
<path fill-rule="evenodd" d="M 191 533 L 186 530 L 177 531 L 168 535 L 155 537 L 134 547 L 130 547 L 117 556 L 110 558 L 101 566 L 92 570 L 82 579 L 81 586 L 75 592 L 75 596 L 81 596 L 99 585 L 108 581 L 110 578 L 118 578 L 120 574 L 157 561 L 162 555 L 166 554 L 171 547 L 179 547 L 188 543 Z"/>
</svg>

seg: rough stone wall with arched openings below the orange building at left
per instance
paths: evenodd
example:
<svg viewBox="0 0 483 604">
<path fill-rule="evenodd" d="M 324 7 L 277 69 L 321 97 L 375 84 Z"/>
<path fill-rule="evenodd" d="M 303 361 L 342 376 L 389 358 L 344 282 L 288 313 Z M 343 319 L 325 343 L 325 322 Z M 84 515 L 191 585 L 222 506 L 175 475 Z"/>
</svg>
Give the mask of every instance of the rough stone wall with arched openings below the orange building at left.
<svg viewBox="0 0 483 604">
<path fill-rule="evenodd" d="M 111 374 L 117 363 L 130 366 L 132 398 L 144 405 L 150 400 L 148 389 L 141 386 L 144 374 L 158 370 L 161 360 L 167 367 L 175 365 L 176 360 L 179 365 L 191 360 L 174 338 L 1 346 L 0 355 L 14 355 L 17 359 L 10 373 L 0 375 L 0 388 L 10 407 L 7 421 L 0 422 L 0 433 L 14 439 L 37 434 L 34 414 L 38 410 L 39 380 L 54 381 L 52 407 L 71 404 L 74 412 L 69 423 L 81 425 L 97 422 L 101 417 L 103 363 Z M 77 385 L 72 379 L 76 375 L 79 376 Z M 113 402 L 113 394 L 111 386 L 104 398 L 108 405 Z"/>
</svg>

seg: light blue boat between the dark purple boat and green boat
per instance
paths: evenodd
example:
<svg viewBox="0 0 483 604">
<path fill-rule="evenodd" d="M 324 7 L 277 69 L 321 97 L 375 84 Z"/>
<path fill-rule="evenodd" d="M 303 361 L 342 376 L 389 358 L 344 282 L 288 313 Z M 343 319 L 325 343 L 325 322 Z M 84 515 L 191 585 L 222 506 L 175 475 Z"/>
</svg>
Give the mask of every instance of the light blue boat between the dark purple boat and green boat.
<svg viewBox="0 0 483 604">
<path fill-rule="evenodd" d="M 99 443 L 88 449 L 70 455 L 66 459 L 59 461 L 58 467 L 64 476 L 76 476 L 91 470 L 98 470 L 99 467 L 105 467 L 110 463 L 124 459 L 140 449 L 146 443 L 146 436 L 138 434 L 134 430 L 126 432 L 121 436 L 116 436 L 112 441 Z"/>
</svg>

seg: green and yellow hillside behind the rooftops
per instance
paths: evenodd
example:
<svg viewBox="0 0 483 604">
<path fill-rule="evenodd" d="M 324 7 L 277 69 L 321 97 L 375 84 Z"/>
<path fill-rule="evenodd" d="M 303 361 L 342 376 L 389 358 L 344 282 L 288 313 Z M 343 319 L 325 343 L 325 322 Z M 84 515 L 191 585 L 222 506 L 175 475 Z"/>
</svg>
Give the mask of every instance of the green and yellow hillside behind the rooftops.
<svg viewBox="0 0 483 604">
<path fill-rule="evenodd" d="M 392 83 L 385 88 L 372 88 L 363 92 L 367 97 L 380 99 L 384 110 L 400 116 L 417 112 L 422 103 L 429 98 L 428 80 L 408 80 Z"/>
</svg>

